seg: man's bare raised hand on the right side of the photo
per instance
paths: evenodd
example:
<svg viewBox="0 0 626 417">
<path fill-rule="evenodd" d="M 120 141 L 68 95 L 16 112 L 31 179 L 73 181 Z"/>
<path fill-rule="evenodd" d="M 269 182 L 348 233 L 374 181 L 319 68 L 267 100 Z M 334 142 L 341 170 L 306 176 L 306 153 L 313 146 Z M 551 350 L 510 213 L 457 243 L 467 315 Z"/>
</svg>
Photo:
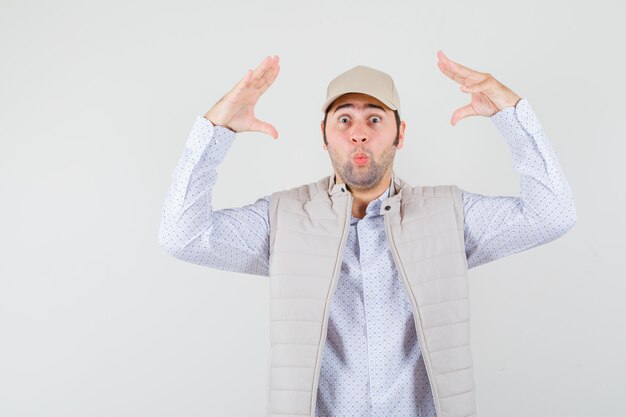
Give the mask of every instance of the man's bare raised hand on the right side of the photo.
<svg viewBox="0 0 626 417">
<path fill-rule="evenodd" d="M 489 73 L 478 72 L 448 59 L 438 51 L 437 66 L 448 78 L 461 84 L 461 91 L 472 95 L 468 105 L 456 109 L 450 123 L 456 125 L 468 116 L 493 116 L 507 107 L 514 107 L 521 98 Z"/>
</svg>

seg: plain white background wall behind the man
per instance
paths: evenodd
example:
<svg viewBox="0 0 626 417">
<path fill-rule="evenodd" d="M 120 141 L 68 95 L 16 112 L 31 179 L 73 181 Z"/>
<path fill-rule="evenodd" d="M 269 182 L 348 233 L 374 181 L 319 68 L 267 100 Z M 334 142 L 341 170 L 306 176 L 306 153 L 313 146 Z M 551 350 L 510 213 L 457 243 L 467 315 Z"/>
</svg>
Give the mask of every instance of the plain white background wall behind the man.
<svg viewBox="0 0 626 417">
<path fill-rule="evenodd" d="M 436 51 L 528 98 L 574 192 L 564 237 L 472 269 L 480 417 L 624 415 L 623 2 L 0 2 L 0 416 L 264 416 L 269 285 L 158 244 L 196 116 L 278 54 L 214 208 L 331 172 L 320 106 L 354 65 L 390 73 L 396 173 L 516 195 L 487 118 Z M 621 181 L 620 181 L 621 179 Z"/>
</svg>

